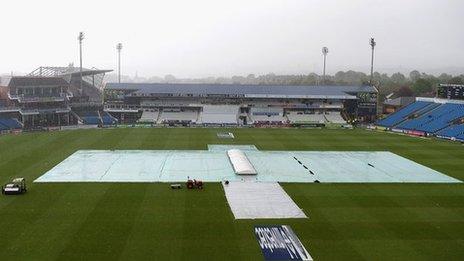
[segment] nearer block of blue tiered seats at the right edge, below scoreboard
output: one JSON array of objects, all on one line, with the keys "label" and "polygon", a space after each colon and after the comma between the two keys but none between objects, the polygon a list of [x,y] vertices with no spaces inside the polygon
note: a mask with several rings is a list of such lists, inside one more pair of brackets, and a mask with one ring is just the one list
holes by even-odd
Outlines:
[{"label": "nearer block of blue tiered seats at the right edge, below scoreboard", "polygon": [[453,120],[461,117],[464,117],[464,104],[446,103],[418,118],[398,125],[398,128],[435,133],[447,127]]}]

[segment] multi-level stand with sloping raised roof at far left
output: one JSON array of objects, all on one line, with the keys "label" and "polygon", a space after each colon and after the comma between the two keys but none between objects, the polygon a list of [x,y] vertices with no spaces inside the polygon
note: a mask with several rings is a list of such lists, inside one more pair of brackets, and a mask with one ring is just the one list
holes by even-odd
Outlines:
[{"label": "multi-level stand with sloping raised roof at far left", "polygon": [[[0,90],[0,118],[16,118],[24,130],[112,124],[114,118],[99,114],[103,110],[103,78],[110,71],[83,68],[80,72],[70,64],[7,77]],[[77,113],[91,110],[94,112],[88,115]]]}]

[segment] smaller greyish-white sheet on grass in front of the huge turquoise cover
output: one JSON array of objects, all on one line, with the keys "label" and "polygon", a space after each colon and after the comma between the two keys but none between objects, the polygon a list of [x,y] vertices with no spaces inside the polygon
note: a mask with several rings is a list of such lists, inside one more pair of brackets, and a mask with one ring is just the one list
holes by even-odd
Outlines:
[{"label": "smaller greyish-white sheet on grass in front of the huge turquoise cover", "polygon": [[235,219],[307,218],[279,183],[234,181],[223,186]]}]

